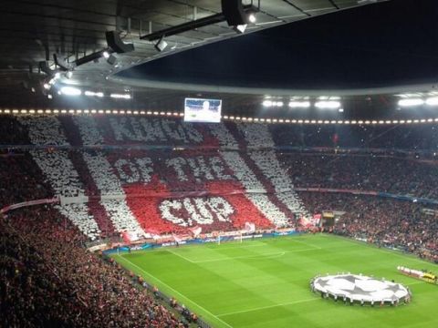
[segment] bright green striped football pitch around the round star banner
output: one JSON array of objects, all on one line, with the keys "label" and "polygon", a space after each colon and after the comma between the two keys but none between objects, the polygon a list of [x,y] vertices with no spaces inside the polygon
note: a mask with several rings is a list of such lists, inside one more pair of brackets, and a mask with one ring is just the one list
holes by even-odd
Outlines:
[{"label": "bright green striped football pitch around the round star banner", "polygon": [[[438,327],[438,285],[396,269],[402,265],[438,272],[438,266],[337,236],[278,237],[113,256],[214,327]],[[311,278],[338,272],[401,282],[410,287],[412,302],[350,306],[310,292]]]}]

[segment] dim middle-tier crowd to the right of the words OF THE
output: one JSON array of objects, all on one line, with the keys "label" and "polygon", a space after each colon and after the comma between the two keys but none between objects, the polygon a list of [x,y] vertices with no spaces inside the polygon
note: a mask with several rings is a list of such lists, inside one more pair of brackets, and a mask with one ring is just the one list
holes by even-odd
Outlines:
[{"label": "dim middle-tier crowd to the right of the words OF THE", "polygon": [[438,200],[435,161],[295,152],[278,157],[296,187],[374,190]]}]

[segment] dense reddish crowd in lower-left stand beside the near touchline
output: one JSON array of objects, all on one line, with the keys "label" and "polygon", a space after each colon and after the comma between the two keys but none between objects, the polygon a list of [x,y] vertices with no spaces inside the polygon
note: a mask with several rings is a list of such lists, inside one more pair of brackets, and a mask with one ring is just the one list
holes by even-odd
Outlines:
[{"label": "dense reddish crowd in lower-left stand beside the near touchline", "polygon": [[0,311],[5,327],[183,327],[119,264],[86,251],[53,208],[0,220]]}]

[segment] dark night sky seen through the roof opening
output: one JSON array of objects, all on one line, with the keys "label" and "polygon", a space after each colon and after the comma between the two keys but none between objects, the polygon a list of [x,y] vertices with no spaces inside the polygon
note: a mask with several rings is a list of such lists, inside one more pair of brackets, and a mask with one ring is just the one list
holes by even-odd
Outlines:
[{"label": "dark night sky seen through the roof opening", "polygon": [[121,75],[240,87],[432,82],[438,80],[438,1],[392,0],[323,15],[167,56]]}]

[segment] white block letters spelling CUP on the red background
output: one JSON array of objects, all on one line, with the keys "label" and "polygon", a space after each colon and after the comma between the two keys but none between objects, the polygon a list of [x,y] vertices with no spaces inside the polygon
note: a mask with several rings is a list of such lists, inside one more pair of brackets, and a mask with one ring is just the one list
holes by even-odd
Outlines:
[{"label": "white block letters spelling CUP on the red background", "polygon": [[212,224],[215,219],[229,221],[235,212],[222,197],[163,200],[160,210],[163,219],[183,227]]}]

